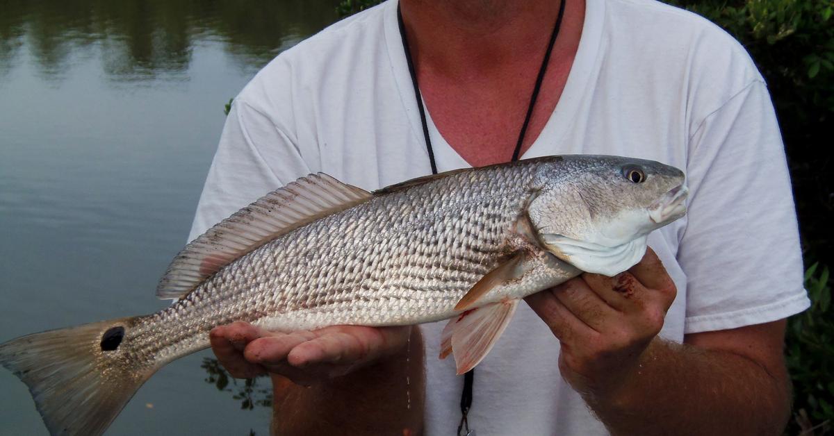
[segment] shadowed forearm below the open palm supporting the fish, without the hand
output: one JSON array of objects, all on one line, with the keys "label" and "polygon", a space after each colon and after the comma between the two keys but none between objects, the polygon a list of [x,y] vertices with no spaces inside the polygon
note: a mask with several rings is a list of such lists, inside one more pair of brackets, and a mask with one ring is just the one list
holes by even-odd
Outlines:
[{"label": "shadowed forearm below the open palm supporting the fish, without the hand", "polygon": [[273,375],[272,433],[422,433],[423,354],[420,328],[412,328],[407,349],[326,383],[304,388]]}]

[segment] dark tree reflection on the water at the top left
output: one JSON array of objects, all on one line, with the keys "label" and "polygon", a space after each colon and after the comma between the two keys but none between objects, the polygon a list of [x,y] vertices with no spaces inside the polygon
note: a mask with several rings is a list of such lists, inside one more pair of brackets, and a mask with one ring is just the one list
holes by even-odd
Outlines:
[{"label": "dark tree reflection on the water at the top left", "polygon": [[13,68],[23,40],[39,73],[60,78],[79,53],[93,51],[109,78],[187,78],[193,47],[206,40],[247,70],[335,19],[333,0],[4,0],[0,74]]}]

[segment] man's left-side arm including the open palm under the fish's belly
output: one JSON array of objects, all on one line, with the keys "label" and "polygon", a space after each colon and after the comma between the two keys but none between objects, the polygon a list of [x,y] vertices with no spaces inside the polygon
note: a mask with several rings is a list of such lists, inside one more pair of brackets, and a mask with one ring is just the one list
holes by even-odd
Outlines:
[{"label": "man's left-side arm including the open palm under the fish's belly", "polygon": [[234,377],[269,371],[273,434],[422,433],[420,328],[334,326],[270,333],[234,323],[214,328],[211,343]]}]

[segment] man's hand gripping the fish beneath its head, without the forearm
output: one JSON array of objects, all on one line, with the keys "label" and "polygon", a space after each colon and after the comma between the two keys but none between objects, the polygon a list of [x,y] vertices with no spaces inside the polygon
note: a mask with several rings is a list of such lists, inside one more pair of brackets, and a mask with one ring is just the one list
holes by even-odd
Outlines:
[{"label": "man's hand gripping the fish beneath its head, without the forearm", "polygon": [[676,288],[651,248],[610,278],[584,273],[526,298],[561,343],[559,368],[578,392],[610,396],[639,369]]}]

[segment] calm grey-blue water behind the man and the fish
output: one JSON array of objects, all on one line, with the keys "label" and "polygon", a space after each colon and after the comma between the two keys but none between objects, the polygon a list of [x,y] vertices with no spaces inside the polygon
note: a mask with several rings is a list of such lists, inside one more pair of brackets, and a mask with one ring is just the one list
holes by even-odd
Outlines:
[{"label": "calm grey-blue water behind the man and the fish", "polygon": [[[335,3],[0,0],[0,342],[163,307],[224,103]],[[108,434],[268,433],[242,383],[205,382],[209,356],[163,368]],[[0,433],[47,433],[3,369]]]}]

